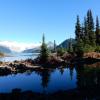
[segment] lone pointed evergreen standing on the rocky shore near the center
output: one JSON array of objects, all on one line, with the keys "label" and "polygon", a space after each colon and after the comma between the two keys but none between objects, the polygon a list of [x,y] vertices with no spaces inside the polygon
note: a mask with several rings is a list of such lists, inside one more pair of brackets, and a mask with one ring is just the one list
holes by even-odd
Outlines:
[{"label": "lone pointed evergreen standing on the rocky shore near the center", "polygon": [[43,34],[42,46],[41,46],[41,52],[40,52],[40,62],[46,63],[48,61],[48,57],[49,57],[49,52],[48,52],[47,45],[45,43],[45,36]]}]

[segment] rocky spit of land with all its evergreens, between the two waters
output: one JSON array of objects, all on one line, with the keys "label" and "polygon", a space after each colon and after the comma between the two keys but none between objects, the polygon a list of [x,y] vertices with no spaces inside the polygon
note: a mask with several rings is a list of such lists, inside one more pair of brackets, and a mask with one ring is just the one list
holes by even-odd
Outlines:
[{"label": "rocky spit of land with all its evergreens, between the two waters", "polygon": [[[100,62],[100,28],[99,19],[96,17],[94,26],[92,11],[88,10],[84,18],[84,24],[80,24],[79,16],[75,25],[75,41],[69,39],[68,47],[57,46],[54,40],[54,48],[48,49],[45,35],[42,37],[41,50],[37,58],[14,62],[0,62],[1,73],[16,73],[27,70],[41,70],[56,68],[66,64],[86,64]],[[0,56],[5,54],[0,53]],[[56,66],[56,67],[55,67]]]}]

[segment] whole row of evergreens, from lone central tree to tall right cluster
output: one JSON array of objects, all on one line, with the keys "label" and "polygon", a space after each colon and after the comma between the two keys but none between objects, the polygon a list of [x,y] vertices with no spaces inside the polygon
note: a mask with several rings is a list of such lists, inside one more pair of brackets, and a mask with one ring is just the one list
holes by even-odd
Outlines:
[{"label": "whole row of evergreens, from lone central tree to tall right cluster", "polygon": [[[91,10],[87,11],[87,15],[84,17],[82,23],[80,22],[79,16],[77,16],[75,43],[72,42],[72,39],[69,39],[69,43],[66,43],[66,45],[68,45],[66,48],[63,46],[58,48],[54,40],[54,49],[51,52],[57,53],[58,56],[62,56],[66,52],[76,56],[83,56],[86,52],[100,52],[100,26],[98,16],[96,17],[95,23]],[[39,56],[41,63],[47,61],[49,55],[50,50],[47,48],[45,36],[43,35]]]}]

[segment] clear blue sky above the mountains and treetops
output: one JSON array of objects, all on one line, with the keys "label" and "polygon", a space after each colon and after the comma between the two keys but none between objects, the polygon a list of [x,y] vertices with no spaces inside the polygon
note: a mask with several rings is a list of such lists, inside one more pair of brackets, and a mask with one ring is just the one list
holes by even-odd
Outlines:
[{"label": "clear blue sky above the mountains and treetops", "polygon": [[[76,15],[88,9],[100,16],[100,0],[0,0],[0,40],[24,43],[62,42],[74,37]],[[99,17],[100,18],[100,17]]]}]

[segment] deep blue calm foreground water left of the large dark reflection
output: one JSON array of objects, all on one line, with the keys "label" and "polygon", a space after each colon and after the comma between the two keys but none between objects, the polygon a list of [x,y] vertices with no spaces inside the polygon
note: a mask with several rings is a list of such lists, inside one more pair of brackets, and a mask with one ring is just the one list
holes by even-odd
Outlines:
[{"label": "deep blue calm foreground water left of the large dark reflection", "polygon": [[23,73],[0,77],[0,92],[11,92],[18,88],[22,91],[31,90],[33,92],[52,93],[59,90],[69,90],[76,88],[77,78],[76,70],[73,69],[73,75],[69,68],[55,69],[52,71]]}]

